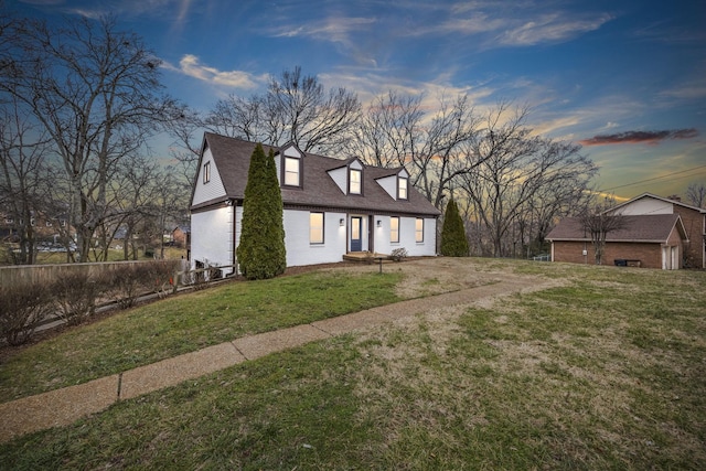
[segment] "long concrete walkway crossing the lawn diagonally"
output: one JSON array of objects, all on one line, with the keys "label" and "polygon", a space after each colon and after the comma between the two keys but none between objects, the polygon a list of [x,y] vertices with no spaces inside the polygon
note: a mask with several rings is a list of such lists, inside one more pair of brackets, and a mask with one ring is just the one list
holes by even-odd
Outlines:
[{"label": "long concrete walkway crossing the lawn diagonally", "polygon": [[441,307],[464,306],[491,296],[547,288],[534,277],[509,277],[494,285],[381,306],[352,314],[244,336],[120,374],[0,404],[0,442],[74,421],[130,399],[270,353],[368,329]]}]

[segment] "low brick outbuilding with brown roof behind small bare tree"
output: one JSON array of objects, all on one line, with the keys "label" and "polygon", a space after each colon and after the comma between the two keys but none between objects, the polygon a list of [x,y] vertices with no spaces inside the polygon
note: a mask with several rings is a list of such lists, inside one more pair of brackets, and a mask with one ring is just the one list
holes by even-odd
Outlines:
[{"label": "low brick outbuilding with brown roof behind small bare tree", "polygon": [[[678,269],[688,238],[678,214],[623,216],[623,227],[608,233],[602,263],[644,268]],[[552,261],[595,264],[590,234],[578,217],[567,217],[547,235]]]}]

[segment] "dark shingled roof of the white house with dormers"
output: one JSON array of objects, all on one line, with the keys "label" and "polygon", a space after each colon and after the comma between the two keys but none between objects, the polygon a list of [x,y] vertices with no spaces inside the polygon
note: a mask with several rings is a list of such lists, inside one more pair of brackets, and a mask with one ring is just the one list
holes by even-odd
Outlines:
[{"label": "dark shingled roof of the white house with dormers", "polygon": [[[243,200],[250,156],[255,150],[255,142],[206,132],[204,148],[210,148],[216,169],[225,186],[226,197]],[[263,146],[265,153],[270,149],[278,153],[279,148]],[[441,213],[411,185],[408,188],[408,200],[393,199],[376,179],[399,173],[403,169],[383,169],[365,165],[363,170],[363,195],[344,194],[327,173],[330,170],[345,167],[354,159],[341,160],[330,157],[302,152],[303,184],[301,189],[284,186],[282,202],[285,207],[309,206],[328,207],[334,210],[370,211],[378,213],[416,214],[420,216],[439,216]],[[203,207],[212,202],[205,202]],[[192,207],[195,208],[196,206]]]}]

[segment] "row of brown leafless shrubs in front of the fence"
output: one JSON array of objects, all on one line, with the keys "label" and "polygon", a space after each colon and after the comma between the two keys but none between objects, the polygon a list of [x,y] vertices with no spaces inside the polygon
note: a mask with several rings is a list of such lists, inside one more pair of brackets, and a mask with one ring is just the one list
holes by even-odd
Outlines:
[{"label": "row of brown leafless shrubs in front of the fence", "polygon": [[51,315],[75,325],[93,314],[97,302],[135,304],[145,293],[164,296],[172,289],[179,260],[119,265],[99,276],[75,271],[52,283],[0,287],[0,335],[10,345],[32,336],[38,323]]}]

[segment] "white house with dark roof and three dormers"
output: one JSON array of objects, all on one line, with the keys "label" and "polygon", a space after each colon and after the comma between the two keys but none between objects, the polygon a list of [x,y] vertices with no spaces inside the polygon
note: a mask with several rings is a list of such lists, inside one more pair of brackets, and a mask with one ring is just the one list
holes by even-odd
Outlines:
[{"label": "white house with dark roof and three dormers", "polygon": [[[255,142],[204,135],[191,197],[191,253],[196,266],[236,265],[243,200]],[[409,184],[404,168],[359,159],[275,151],[285,206],[287,266],[341,261],[346,253],[436,255],[440,212]],[[226,270],[232,272],[231,269]]]}]

